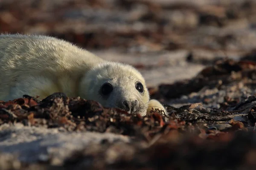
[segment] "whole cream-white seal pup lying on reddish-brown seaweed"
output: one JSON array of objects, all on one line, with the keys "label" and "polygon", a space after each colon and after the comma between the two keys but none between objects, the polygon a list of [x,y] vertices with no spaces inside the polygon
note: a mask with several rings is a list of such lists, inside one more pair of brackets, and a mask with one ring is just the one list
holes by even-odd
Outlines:
[{"label": "whole cream-white seal pup lying on reddish-brown seaweed", "polygon": [[[0,100],[55,92],[95,100],[144,116],[152,106],[145,79],[131,65],[104,60],[65,40],[44,35],[0,35]],[[164,110],[165,111],[165,110]]]}]

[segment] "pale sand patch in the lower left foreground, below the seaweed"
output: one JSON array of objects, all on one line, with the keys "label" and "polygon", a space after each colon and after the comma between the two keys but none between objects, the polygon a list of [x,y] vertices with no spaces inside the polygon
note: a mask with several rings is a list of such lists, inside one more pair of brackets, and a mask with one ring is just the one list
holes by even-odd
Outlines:
[{"label": "pale sand patch in the lower left foreground, below the seaweed", "polygon": [[51,159],[53,165],[61,165],[71,153],[91,143],[100,144],[102,140],[130,142],[128,136],[113,133],[67,133],[61,132],[61,128],[27,127],[23,124],[1,125],[0,136],[2,153],[12,153],[20,161],[29,163]]}]

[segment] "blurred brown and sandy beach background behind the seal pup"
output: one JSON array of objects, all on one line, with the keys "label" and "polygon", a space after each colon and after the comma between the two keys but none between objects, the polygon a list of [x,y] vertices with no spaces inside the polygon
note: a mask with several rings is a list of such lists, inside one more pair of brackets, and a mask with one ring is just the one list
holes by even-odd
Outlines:
[{"label": "blurred brown and sandy beach background behind the seal pup", "polygon": [[149,87],[255,59],[255,28],[255,0],[0,0],[1,33],[68,40],[134,65]]}]

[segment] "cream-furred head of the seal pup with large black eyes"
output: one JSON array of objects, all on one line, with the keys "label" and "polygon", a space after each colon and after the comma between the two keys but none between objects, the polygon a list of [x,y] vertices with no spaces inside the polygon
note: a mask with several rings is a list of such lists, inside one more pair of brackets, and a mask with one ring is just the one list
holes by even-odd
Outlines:
[{"label": "cream-furred head of the seal pup with large black eyes", "polygon": [[121,108],[128,113],[146,114],[149,101],[145,79],[131,65],[104,62],[81,79],[79,95],[105,107]]}]

